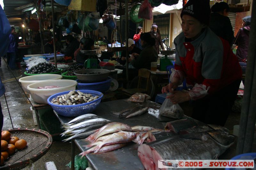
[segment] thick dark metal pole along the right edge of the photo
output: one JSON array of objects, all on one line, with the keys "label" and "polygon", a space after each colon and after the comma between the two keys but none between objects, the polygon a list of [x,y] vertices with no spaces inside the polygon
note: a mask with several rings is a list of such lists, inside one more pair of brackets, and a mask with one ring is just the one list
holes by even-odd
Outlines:
[{"label": "thick dark metal pole along the right edge of the photo", "polygon": [[[253,10],[254,9],[254,10]],[[256,10],[256,4],[252,3],[252,11]],[[246,79],[241,110],[240,126],[236,147],[236,154],[252,151],[253,135],[256,120],[256,13],[252,12],[251,31],[249,36],[249,50],[247,57]]]}]

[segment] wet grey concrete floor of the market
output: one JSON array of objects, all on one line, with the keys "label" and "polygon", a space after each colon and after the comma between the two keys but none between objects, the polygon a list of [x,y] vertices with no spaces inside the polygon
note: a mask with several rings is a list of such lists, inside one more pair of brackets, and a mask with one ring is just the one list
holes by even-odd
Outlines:
[{"label": "wet grey concrete floor of the market", "polygon": [[[2,66],[0,67],[0,76],[2,81],[6,81],[4,86],[6,88],[5,96],[8,103],[9,111],[12,117],[12,123],[14,128],[38,128],[34,124],[32,111],[30,110],[30,103],[26,99],[25,94],[21,90],[18,82],[12,78],[14,76],[20,77],[24,76],[25,68],[20,70],[9,70],[6,64],[2,59]],[[14,74],[14,76],[12,75]],[[18,79],[18,78],[17,78]],[[29,94],[26,93],[29,97]],[[10,116],[7,110],[6,102],[4,96],[0,97],[0,102],[3,110],[4,115],[4,126],[3,129],[12,128],[12,124],[10,121]],[[181,105],[184,109],[184,112],[189,115],[191,112],[191,108],[186,104]],[[226,128],[233,132],[233,126],[239,124],[240,113],[232,113],[228,117],[228,121],[225,125]],[[79,149],[76,147],[75,154],[80,153]],[[45,162],[54,161],[57,168],[59,170],[70,169],[65,165],[69,163],[71,160],[71,143],[68,142],[61,142],[61,141],[54,141],[50,150],[39,160],[34,162],[29,167],[24,168],[25,170],[42,170],[45,169]]]}]

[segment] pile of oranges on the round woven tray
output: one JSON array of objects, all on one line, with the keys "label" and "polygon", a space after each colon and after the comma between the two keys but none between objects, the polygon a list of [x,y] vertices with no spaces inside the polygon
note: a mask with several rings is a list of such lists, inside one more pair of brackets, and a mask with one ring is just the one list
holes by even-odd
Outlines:
[{"label": "pile of oranges on the round woven tray", "polygon": [[7,130],[1,133],[1,165],[4,160],[15,153],[16,149],[20,150],[27,146],[25,139],[19,139],[19,137],[11,137],[11,133]]}]

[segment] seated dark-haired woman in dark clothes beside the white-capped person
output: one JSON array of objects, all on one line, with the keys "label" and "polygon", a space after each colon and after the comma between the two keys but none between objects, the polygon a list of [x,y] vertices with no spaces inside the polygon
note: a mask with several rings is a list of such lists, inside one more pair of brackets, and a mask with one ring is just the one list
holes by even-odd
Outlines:
[{"label": "seated dark-haired woman in dark clothes beside the white-capped person", "polygon": [[[132,53],[132,56],[129,58],[133,67],[137,70],[139,69],[148,69],[151,68],[151,62],[157,61],[157,53],[154,49],[155,39],[151,37],[149,33],[142,33],[140,35],[141,46],[143,50],[140,52],[140,55],[137,53]],[[135,57],[137,57],[135,59]]]}]

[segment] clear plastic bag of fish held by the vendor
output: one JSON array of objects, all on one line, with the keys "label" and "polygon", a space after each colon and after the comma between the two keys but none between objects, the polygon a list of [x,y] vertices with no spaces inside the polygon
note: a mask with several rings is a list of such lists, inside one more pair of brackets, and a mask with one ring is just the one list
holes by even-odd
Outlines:
[{"label": "clear plastic bag of fish held by the vendor", "polygon": [[[167,96],[169,95],[171,95],[171,93],[167,93]],[[174,119],[180,119],[183,117],[184,111],[179,104],[174,105],[170,99],[165,99],[164,103],[159,109],[159,114]]]}]

